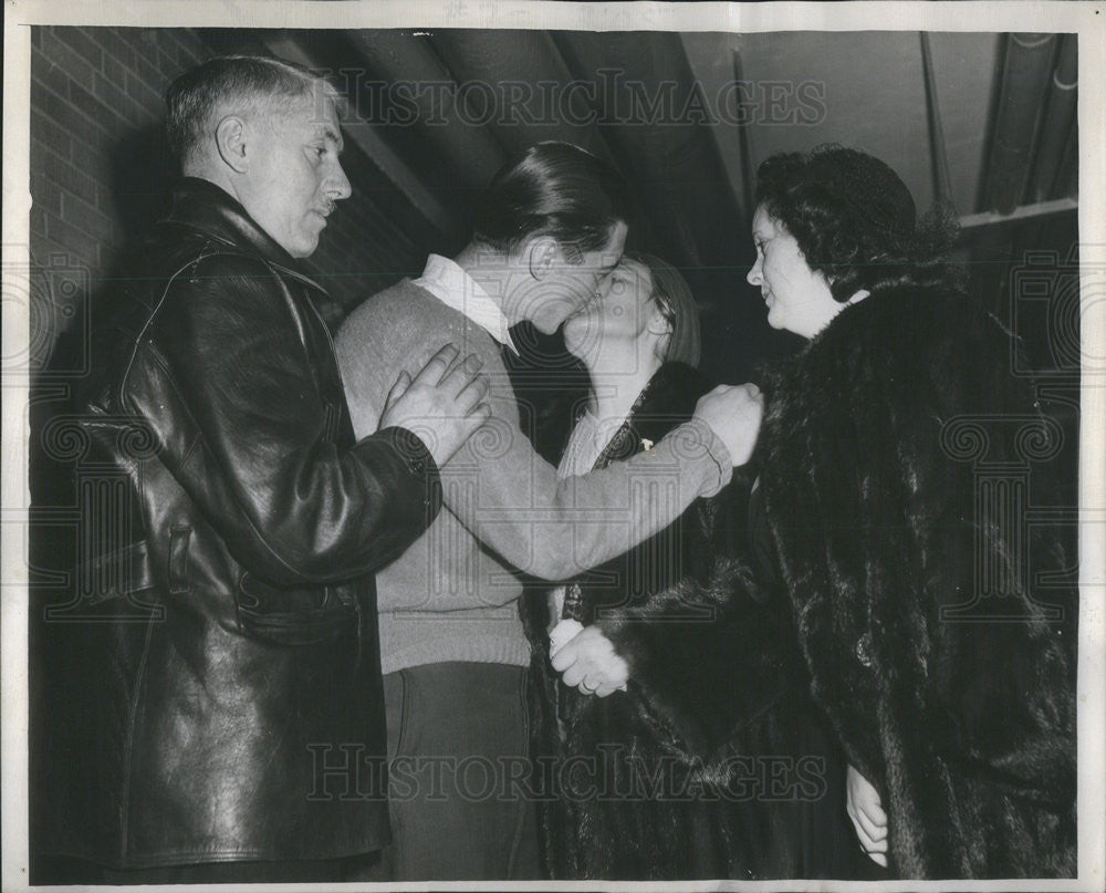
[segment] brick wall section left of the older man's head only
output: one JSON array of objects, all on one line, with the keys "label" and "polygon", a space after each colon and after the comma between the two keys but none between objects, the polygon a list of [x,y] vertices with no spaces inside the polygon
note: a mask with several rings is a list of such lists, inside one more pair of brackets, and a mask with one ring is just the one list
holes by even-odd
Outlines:
[{"label": "brick wall section left of the older man's head only", "polygon": [[165,84],[208,58],[195,34],[145,28],[31,29],[32,334],[50,344],[105,287],[173,176],[159,139]]}]

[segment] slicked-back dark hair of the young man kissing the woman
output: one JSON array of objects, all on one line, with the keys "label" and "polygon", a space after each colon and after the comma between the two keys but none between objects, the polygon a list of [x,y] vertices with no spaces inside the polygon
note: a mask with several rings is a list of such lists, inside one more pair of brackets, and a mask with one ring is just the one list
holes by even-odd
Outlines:
[{"label": "slicked-back dark hair of the young man kissing the woman", "polygon": [[630,216],[629,187],[614,167],[580,146],[546,142],[495,175],[477,199],[472,229],[474,240],[499,251],[531,236],[596,251]]}]

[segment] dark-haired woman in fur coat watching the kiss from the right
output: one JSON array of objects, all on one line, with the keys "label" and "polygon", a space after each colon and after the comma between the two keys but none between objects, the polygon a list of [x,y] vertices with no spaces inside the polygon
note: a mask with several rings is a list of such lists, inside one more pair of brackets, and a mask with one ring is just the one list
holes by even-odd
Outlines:
[{"label": "dark-haired woman in fur coat watching the kiss from the right", "polygon": [[749,281],[810,343],[765,384],[758,499],[872,858],[1071,878],[1077,596],[1037,584],[1070,562],[1023,517],[1030,484],[1056,498],[1062,433],[950,280],[950,235],[863,153],[761,166]]}]

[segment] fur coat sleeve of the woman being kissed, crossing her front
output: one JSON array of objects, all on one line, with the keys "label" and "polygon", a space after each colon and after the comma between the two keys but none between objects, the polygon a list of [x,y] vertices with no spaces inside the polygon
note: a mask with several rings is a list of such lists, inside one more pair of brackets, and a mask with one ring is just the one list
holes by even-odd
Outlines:
[{"label": "fur coat sleeve of the woman being kissed, crossing her front", "polygon": [[[659,440],[707,390],[695,370],[662,366],[601,463]],[[709,762],[803,672],[786,601],[759,585],[748,560],[750,482],[737,474],[651,543],[580,581],[587,622],[629,664],[635,696],[687,760]]]}]

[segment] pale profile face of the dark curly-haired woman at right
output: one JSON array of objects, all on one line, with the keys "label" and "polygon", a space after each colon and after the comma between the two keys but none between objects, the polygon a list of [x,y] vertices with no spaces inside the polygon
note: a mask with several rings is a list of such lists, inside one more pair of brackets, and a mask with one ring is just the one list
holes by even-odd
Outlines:
[{"label": "pale profile face of the dark curly-haired woman at right", "polygon": [[803,338],[814,338],[844,307],[834,300],[821,272],[806,263],[799,242],[764,208],[753,216],[757,262],[745,279],[761,290],[768,323]]}]

